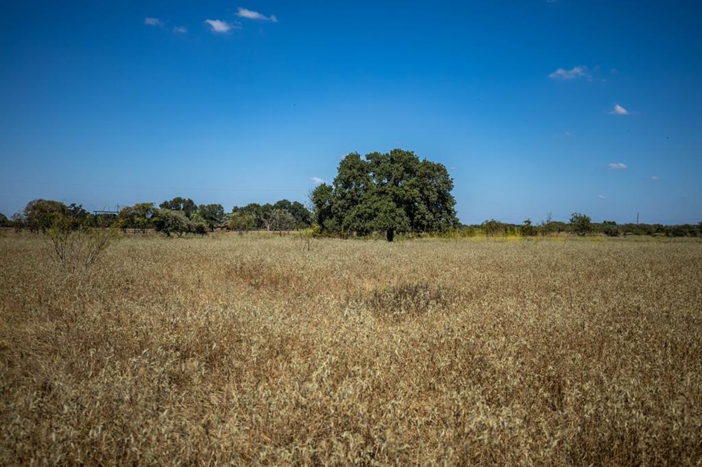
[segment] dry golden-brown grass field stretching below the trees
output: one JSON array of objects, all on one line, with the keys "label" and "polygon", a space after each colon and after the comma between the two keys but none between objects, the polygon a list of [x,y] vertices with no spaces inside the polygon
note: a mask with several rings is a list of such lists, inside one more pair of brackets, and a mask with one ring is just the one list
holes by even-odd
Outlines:
[{"label": "dry golden-brown grass field stretching below the trees", "polygon": [[702,242],[0,238],[0,464],[702,459]]}]

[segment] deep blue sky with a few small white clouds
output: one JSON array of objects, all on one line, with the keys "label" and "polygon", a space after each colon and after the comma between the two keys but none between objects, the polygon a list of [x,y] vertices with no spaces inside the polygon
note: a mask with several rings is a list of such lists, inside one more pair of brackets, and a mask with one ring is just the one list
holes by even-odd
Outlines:
[{"label": "deep blue sky with a few small white clouds", "polygon": [[462,222],[702,220],[702,4],[4,2],[0,212],[305,201],[444,163]]}]

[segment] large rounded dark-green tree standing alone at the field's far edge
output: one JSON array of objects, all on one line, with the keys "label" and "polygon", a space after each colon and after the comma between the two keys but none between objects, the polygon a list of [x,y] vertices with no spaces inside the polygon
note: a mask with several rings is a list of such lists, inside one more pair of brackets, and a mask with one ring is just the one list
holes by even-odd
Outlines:
[{"label": "large rounded dark-green tree standing alone at the field's far edge", "polygon": [[412,151],[393,149],[343,158],[331,185],[310,198],[323,231],[369,234],[385,231],[436,232],[458,224],[453,180],[440,163],[420,160]]}]

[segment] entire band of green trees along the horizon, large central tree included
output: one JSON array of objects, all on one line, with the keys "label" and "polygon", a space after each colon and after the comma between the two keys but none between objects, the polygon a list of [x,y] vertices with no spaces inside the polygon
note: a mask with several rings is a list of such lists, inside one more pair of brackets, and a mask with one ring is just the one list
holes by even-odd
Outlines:
[{"label": "entire band of green trees along the horizon, large central tree included", "polygon": [[[322,184],[312,192],[314,212],[298,201],[282,199],[273,204],[234,206],[231,212],[225,213],[220,204],[197,205],[190,198],[176,197],[159,204],[158,208],[154,203],[136,203],[121,208],[116,214],[91,214],[75,203],[66,205],[61,201],[35,199],[10,219],[0,214],[0,226],[43,234],[57,226],[63,231],[117,226],[142,232],[155,230],[165,236],[204,235],[216,229],[289,231],[312,227],[318,233],[331,236],[386,231],[389,240],[392,240],[394,231],[449,236],[545,236],[564,233],[611,237],[702,236],[702,222],[696,225],[592,222],[588,215],[579,212],[574,212],[569,222],[554,221],[548,215],[539,224],[533,224],[530,219],[522,224],[490,219],[482,224],[462,225],[453,211],[453,199],[447,197],[452,185],[445,175],[445,169],[442,170],[443,166],[437,168],[430,165],[422,169],[417,165],[418,159],[414,158],[416,156],[412,153],[366,156],[366,160],[373,161],[373,164],[388,164],[378,167],[365,165],[366,161],[358,154],[350,154],[340,164],[339,176],[333,184]],[[417,182],[406,182],[407,179],[403,178],[409,170],[433,173],[422,183],[433,184],[434,187],[418,194]],[[428,205],[434,208],[430,209]],[[437,205],[440,208],[436,208]]]}]

